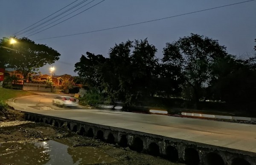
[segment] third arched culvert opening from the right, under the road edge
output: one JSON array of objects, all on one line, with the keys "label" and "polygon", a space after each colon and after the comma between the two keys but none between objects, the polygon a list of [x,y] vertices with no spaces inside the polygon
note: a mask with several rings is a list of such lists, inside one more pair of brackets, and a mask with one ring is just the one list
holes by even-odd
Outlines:
[{"label": "third arched culvert opening from the right, under the road edge", "polygon": [[194,148],[186,148],[184,153],[184,159],[185,163],[187,165],[199,165],[200,159],[198,151],[196,151]]}]

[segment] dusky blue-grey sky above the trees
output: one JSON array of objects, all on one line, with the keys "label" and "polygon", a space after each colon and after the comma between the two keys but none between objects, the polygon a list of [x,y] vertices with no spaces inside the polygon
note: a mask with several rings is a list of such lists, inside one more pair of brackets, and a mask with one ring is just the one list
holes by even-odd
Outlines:
[{"label": "dusky blue-grey sky above the trees", "polygon": [[[10,37],[74,1],[0,0],[0,38]],[[77,0],[40,23],[83,1],[84,3],[75,9],[91,3],[49,26],[72,17],[97,3],[99,4],[63,23],[41,31],[49,27],[46,26],[38,30],[41,31],[38,34],[31,35],[36,32],[36,29],[63,17],[75,9],[33,29],[32,31],[35,32],[31,34],[29,33],[32,31],[28,31],[17,35],[18,38],[28,37],[35,43],[46,44],[61,54],[58,62],[40,68],[42,74],[49,74],[49,68],[53,66],[55,67],[55,75],[77,75],[74,72],[74,65],[79,62],[81,54],[86,55],[85,53],[89,51],[108,57],[109,49],[115,43],[119,44],[134,39],[144,40],[148,38],[148,42],[156,46],[158,50],[156,56],[162,58],[162,51],[166,43],[177,41],[179,37],[189,36],[190,33],[218,40],[221,45],[227,47],[228,53],[237,57],[247,57],[247,54],[255,54],[253,47],[256,44],[254,42],[256,38],[256,0],[246,3],[240,3],[245,0]],[[240,4],[226,6],[233,3]],[[201,11],[219,6],[226,7]],[[194,11],[201,12],[186,14]],[[179,14],[186,15],[172,17]],[[58,37],[165,17],[171,18],[105,31]],[[35,24],[35,26],[38,24]],[[45,39],[51,37],[56,38]]]}]

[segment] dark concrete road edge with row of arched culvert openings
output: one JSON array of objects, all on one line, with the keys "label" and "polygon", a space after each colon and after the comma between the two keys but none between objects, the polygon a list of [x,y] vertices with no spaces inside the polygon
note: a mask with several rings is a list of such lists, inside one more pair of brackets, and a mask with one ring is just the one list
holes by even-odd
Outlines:
[{"label": "dark concrete road edge with row of arched culvert openings", "polygon": [[256,153],[173,139],[89,122],[63,119],[24,112],[27,120],[44,122],[88,137],[118,144],[131,150],[161,156],[172,162],[191,165],[256,165]]}]

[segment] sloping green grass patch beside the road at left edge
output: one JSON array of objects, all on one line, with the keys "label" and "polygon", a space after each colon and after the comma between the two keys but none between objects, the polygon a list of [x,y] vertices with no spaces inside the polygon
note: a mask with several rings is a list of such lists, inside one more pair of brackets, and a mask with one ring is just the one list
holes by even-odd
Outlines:
[{"label": "sloping green grass patch beside the road at left edge", "polygon": [[11,99],[14,97],[32,96],[32,95],[37,95],[37,94],[29,91],[0,88],[0,100],[3,100],[3,102],[6,102],[8,99]]}]

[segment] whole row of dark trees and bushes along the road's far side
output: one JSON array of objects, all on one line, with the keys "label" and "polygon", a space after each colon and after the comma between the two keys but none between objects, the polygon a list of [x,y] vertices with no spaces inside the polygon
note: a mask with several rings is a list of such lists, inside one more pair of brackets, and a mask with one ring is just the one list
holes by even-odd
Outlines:
[{"label": "whole row of dark trees and bushes along the road's far side", "polygon": [[157,51],[144,39],[115,44],[108,57],[86,52],[75,71],[87,91],[96,88],[98,94],[88,92],[82,100],[118,100],[125,111],[256,116],[256,53],[236,57],[198,34],[166,43],[162,59]]}]

